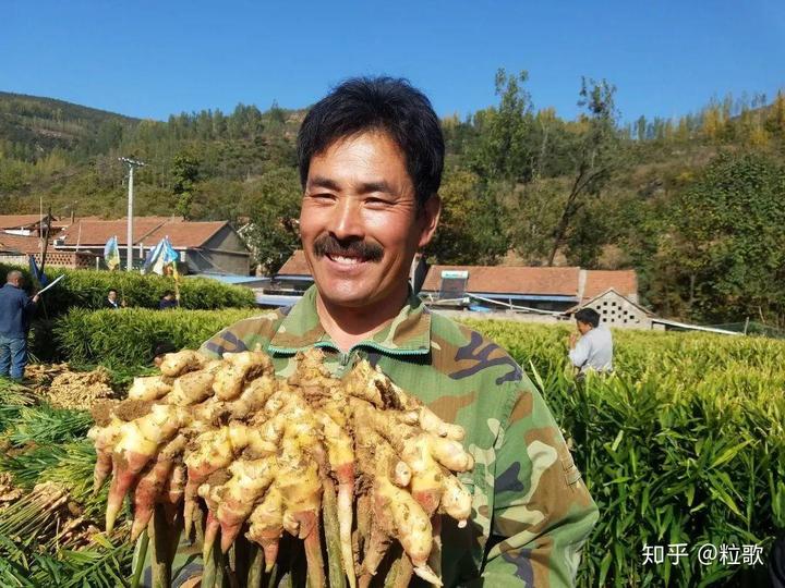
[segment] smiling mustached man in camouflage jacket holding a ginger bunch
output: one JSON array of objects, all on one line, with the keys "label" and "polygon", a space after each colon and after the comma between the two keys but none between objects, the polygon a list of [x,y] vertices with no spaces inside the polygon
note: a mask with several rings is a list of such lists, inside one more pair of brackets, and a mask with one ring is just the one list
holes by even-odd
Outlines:
[{"label": "smiling mustached man in camouflage jacket holding a ginger bunch", "polygon": [[315,286],[202,351],[263,348],[278,373],[312,346],[335,376],[359,358],[378,365],[461,425],[476,461],[462,477],[474,500],[469,525],[444,522],[445,585],[571,585],[596,506],[558,426],[504,350],[428,313],[409,289],[412,258],[440,211],[444,139],[427,98],[400,79],[350,79],[305,117],[298,157]]}]

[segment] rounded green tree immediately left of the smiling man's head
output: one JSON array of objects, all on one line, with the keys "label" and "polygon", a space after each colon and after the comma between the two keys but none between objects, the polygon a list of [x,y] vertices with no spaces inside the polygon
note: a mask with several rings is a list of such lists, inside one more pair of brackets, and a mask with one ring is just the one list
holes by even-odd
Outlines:
[{"label": "rounded green tree immediately left of the smiling man's head", "polygon": [[274,275],[300,246],[298,219],[302,188],[294,168],[278,168],[251,184],[244,208],[250,223],[245,241],[256,264]]}]

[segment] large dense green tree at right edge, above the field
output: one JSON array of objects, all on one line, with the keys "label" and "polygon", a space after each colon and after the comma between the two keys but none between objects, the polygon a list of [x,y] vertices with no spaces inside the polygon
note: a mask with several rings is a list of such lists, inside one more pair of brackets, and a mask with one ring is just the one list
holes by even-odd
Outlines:
[{"label": "large dense green tree at right edge, above the field", "polygon": [[754,151],[718,156],[677,195],[660,257],[689,317],[782,320],[784,198],[785,167]]}]

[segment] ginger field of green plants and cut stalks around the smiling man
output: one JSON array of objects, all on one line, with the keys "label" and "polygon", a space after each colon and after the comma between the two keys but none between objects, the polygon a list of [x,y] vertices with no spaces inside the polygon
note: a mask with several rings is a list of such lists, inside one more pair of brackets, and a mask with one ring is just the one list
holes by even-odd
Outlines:
[{"label": "ginger field of green plants and cut stalks around the smiling man", "polygon": [[[130,510],[107,536],[106,489],[92,493],[90,395],[122,397],[130,376],[150,371],[161,338],[193,346],[245,313],[135,310],[128,329],[123,314],[77,313],[56,326],[61,358],[83,371],[109,369],[55,382],[64,366],[37,367],[29,385],[0,380],[0,585],[131,585]],[[470,324],[542,390],[600,506],[580,586],[762,584],[764,565],[751,555],[765,563],[785,531],[784,342],[615,332],[616,373],[577,385],[567,327]],[[667,553],[676,544],[686,556],[647,561],[647,547]],[[745,548],[750,558],[701,561],[705,544]]]}]

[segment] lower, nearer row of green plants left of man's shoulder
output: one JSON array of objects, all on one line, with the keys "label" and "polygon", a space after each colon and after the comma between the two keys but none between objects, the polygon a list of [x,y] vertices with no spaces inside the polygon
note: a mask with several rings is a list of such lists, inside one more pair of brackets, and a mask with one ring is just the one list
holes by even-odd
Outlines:
[{"label": "lower, nearer row of green plants left of man's shoulder", "polygon": [[85,310],[74,308],[55,322],[55,341],[63,359],[120,369],[148,365],[161,346],[196,348],[227,324],[254,315],[230,310]]}]

